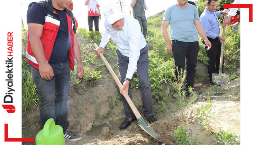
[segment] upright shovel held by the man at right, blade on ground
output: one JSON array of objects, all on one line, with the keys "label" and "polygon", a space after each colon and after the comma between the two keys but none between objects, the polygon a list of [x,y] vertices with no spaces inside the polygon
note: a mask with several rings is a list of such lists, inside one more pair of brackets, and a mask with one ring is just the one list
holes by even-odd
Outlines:
[{"label": "upright shovel held by the man at right, blade on ground", "polygon": [[[227,14],[225,14],[224,21],[226,19],[227,19]],[[222,34],[223,38],[225,38],[225,30],[226,30],[226,26],[223,28],[223,34]],[[228,79],[229,79],[229,74],[222,73],[223,48],[224,48],[224,40],[222,40],[222,42],[221,42],[219,74],[212,73],[212,82],[217,85],[225,84],[228,82]]]}]

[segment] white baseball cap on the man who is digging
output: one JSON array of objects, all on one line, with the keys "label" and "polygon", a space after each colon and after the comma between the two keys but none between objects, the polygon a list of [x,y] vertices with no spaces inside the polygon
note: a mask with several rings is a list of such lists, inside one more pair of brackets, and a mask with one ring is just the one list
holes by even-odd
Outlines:
[{"label": "white baseball cap on the man who is digging", "polygon": [[103,13],[108,23],[113,24],[117,20],[124,18],[124,14],[121,11],[121,8],[117,4],[110,4],[103,8]]}]

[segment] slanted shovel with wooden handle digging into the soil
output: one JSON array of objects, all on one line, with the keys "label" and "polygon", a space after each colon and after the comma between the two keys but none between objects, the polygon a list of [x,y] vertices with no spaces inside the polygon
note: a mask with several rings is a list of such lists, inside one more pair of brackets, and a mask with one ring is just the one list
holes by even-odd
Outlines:
[{"label": "slanted shovel with wooden handle digging into the soil", "polygon": [[[93,46],[95,48],[97,48],[97,44],[93,43]],[[115,72],[112,70],[111,66],[109,65],[108,61],[106,60],[106,58],[103,56],[102,53],[100,53],[100,57],[103,60],[103,62],[105,63],[105,65],[107,66],[108,70],[110,71],[110,74],[112,75],[112,77],[115,79],[117,85],[119,88],[122,88],[122,84],[119,81],[119,79],[117,78]],[[147,125],[144,122],[144,119],[141,117],[141,115],[139,114],[139,111],[137,110],[137,108],[135,107],[135,105],[132,103],[131,98],[128,96],[128,93],[123,90],[122,94],[125,96],[125,99],[127,100],[129,106],[131,107],[132,112],[134,113],[134,115],[136,116],[136,118],[138,119],[139,122],[139,127],[142,128],[147,134],[149,134],[150,136],[154,137],[154,139],[156,139],[157,141],[161,142],[159,139],[157,139],[158,136],[160,136],[159,134],[157,134],[153,129],[148,128]],[[162,142],[161,142],[162,143]]]}]

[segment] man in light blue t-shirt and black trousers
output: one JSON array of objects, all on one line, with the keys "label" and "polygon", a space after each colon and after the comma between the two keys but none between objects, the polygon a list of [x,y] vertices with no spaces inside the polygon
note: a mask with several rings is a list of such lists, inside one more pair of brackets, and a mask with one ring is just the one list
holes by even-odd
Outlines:
[{"label": "man in light blue t-shirt and black trousers", "polygon": [[[170,26],[171,40],[168,36],[167,27]],[[197,31],[196,31],[197,30]],[[188,3],[188,0],[177,0],[177,3],[167,8],[162,22],[162,33],[167,43],[166,50],[173,52],[175,67],[178,71],[185,68],[186,61],[186,93],[188,88],[194,85],[195,67],[199,52],[198,33],[204,39],[205,44],[211,48],[211,42],[205,35],[203,26],[199,21],[198,10]],[[175,70],[175,76],[178,72]],[[201,91],[196,91],[201,94]]]}]

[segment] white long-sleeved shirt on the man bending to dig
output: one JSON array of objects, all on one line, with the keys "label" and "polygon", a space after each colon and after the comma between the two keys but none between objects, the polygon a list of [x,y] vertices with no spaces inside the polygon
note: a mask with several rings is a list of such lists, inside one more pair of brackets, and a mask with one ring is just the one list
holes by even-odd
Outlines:
[{"label": "white long-sleeved shirt on the man bending to dig", "polygon": [[124,15],[124,19],[124,26],[120,30],[113,28],[108,21],[105,20],[105,31],[102,34],[100,47],[104,48],[110,37],[113,39],[121,54],[129,57],[126,78],[131,79],[134,72],[137,70],[140,50],[147,45],[147,42],[141,33],[139,21],[127,15]]}]

